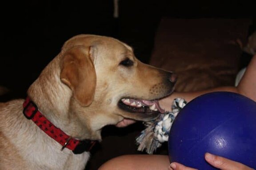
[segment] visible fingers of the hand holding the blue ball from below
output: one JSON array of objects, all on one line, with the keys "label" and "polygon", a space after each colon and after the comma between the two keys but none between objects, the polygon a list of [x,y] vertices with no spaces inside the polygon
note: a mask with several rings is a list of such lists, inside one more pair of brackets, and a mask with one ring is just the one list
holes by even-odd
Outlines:
[{"label": "visible fingers of the hand holding the blue ball from below", "polygon": [[[227,158],[223,158],[221,156],[212,155],[206,153],[204,155],[205,160],[211,164],[212,166],[220,169],[220,170],[253,170],[252,168],[245,166],[240,162],[235,162]],[[184,166],[177,162],[172,162],[169,170],[196,170],[194,168],[190,168]]]}]

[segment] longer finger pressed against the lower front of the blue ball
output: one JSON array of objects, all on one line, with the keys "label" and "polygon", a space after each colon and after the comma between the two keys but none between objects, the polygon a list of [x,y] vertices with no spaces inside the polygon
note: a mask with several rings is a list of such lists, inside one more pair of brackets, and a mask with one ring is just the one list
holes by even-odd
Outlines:
[{"label": "longer finger pressed against the lower front of the blue ball", "polygon": [[206,153],[204,158],[209,164],[221,170],[253,170],[242,163],[235,162],[221,156],[212,155],[210,153]]}]

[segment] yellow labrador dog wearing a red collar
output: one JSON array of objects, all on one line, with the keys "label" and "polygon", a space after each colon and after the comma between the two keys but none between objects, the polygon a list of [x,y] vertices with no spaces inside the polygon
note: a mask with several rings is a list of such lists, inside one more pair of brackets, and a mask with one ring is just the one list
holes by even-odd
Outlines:
[{"label": "yellow labrador dog wearing a red collar", "polygon": [[0,103],[0,169],[83,170],[104,126],[156,119],[175,80],[117,39],[69,39],[26,100]]}]

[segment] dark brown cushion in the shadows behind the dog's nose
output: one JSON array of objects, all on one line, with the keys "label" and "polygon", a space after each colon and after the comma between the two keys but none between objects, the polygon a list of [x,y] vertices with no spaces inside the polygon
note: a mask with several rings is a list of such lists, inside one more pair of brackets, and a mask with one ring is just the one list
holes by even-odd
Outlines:
[{"label": "dark brown cushion in the shadows behind the dog's nose", "polygon": [[163,18],[149,63],[177,73],[179,92],[234,85],[251,22]]}]

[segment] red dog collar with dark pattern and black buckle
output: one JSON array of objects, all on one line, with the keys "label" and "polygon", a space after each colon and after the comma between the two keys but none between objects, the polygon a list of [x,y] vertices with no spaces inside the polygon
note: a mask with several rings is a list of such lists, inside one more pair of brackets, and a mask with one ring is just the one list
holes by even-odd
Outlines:
[{"label": "red dog collar with dark pattern and black buckle", "polygon": [[38,110],[36,104],[27,97],[23,103],[23,114],[28,120],[32,120],[42,131],[56,140],[62,146],[61,151],[66,147],[74,154],[81,154],[84,151],[90,151],[95,144],[92,140],[78,140],[61,131],[54,126],[42,113]]}]

